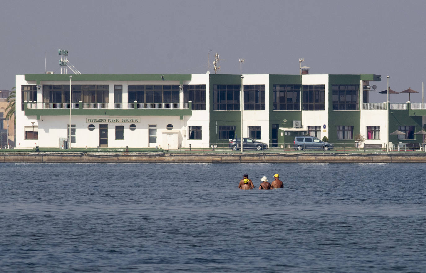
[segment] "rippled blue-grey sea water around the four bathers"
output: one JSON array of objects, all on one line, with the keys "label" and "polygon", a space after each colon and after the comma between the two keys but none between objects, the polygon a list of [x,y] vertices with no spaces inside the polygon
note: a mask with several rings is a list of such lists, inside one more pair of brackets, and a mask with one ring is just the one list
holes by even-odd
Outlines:
[{"label": "rippled blue-grey sea water around the four bathers", "polygon": [[[1,272],[425,272],[424,164],[1,164]],[[243,191],[248,173],[285,188]]]}]

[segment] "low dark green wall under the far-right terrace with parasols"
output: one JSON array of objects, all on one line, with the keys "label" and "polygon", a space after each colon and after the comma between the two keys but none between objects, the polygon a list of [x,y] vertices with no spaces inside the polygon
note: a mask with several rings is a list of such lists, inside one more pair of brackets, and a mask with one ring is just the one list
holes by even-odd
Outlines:
[{"label": "low dark green wall under the far-right terrace with parasols", "polygon": [[[409,108],[409,103],[407,103]],[[389,110],[389,132],[388,134],[396,131],[398,126],[415,126],[414,133],[422,129],[422,116],[410,116],[410,110]],[[386,134],[386,132],[383,132]],[[420,143],[423,142],[422,135],[414,135],[414,139],[406,140],[399,139],[395,135],[389,135],[389,141],[392,143],[404,142],[404,143]]]}]

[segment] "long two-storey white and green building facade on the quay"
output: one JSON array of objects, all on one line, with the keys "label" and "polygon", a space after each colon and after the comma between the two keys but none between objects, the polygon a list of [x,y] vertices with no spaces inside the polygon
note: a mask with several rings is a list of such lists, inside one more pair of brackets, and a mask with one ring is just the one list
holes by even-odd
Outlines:
[{"label": "long two-storey white and green building facade on the quay", "polygon": [[[375,74],[17,75],[16,146],[62,148],[70,116],[72,148],[227,147],[241,132],[277,148],[299,134],[418,143],[425,105],[370,103],[377,81]],[[389,136],[397,129],[406,135]]]}]

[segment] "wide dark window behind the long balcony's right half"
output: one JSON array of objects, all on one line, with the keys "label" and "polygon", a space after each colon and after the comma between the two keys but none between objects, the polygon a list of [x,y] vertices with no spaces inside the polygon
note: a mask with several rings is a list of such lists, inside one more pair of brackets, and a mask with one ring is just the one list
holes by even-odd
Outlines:
[{"label": "wide dark window behind the long balcony's right half", "polygon": [[179,102],[179,85],[129,85],[127,102]]}]

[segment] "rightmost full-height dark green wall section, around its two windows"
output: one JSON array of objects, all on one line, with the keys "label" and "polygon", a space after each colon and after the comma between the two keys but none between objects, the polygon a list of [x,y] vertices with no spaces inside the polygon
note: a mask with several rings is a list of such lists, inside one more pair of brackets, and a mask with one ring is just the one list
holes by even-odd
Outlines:
[{"label": "rightmost full-height dark green wall section, around its two windows", "polygon": [[[337,139],[337,126],[354,126],[354,134],[360,132],[360,111],[333,111],[333,88],[335,84],[360,84],[361,75],[328,75],[328,141],[352,143],[354,139]],[[358,103],[361,98],[358,92]],[[355,142],[354,142],[355,143]]]}]

